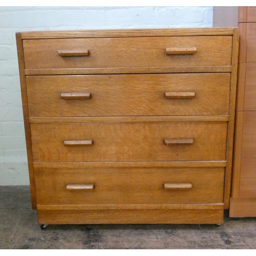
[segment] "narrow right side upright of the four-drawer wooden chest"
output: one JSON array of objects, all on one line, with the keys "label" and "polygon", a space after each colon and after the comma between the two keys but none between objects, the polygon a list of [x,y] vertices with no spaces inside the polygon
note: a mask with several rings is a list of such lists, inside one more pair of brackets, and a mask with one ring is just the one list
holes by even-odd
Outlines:
[{"label": "narrow right side upright of the four-drawer wooden chest", "polygon": [[237,92],[237,70],[238,70],[238,50],[239,50],[239,29],[234,29],[232,44],[232,71],[230,80],[230,98],[229,98],[229,122],[227,130],[227,166],[225,171],[225,188],[224,188],[224,208],[229,208],[232,158],[233,158],[233,138],[234,138],[234,112],[236,108]]}]

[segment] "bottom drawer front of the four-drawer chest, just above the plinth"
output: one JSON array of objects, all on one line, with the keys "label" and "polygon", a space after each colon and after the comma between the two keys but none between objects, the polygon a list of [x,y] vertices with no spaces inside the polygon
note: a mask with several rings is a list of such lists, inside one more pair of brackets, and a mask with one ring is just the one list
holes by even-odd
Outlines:
[{"label": "bottom drawer front of the four-drawer chest, just above the plinth", "polygon": [[224,167],[35,168],[35,186],[39,205],[222,203]]}]

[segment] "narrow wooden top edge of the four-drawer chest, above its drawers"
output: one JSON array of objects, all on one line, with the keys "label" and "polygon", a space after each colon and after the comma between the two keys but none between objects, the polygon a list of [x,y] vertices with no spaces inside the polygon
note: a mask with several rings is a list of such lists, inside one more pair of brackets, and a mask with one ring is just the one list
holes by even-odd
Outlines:
[{"label": "narrow wooden top edge of the four-drawer chest, above its drawers", "polygon": [[233,35],[233,28],[114,29],[23,32],[22,39]]}]

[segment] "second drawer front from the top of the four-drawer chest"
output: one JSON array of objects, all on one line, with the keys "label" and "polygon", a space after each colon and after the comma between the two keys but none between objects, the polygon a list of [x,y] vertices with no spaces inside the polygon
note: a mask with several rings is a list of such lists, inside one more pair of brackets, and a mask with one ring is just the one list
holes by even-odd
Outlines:
[{"label": "second drawer front from the top of the four-drawer chest", "polygon": [[230,73],[27,76],[26,81],[30,117],[228,115],[229,110]]}]

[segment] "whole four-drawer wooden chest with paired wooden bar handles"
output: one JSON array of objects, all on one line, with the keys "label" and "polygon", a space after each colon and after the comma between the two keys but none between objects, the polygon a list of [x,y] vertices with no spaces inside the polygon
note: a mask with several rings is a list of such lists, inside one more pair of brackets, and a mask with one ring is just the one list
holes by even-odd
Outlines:
[{"label": "whole four-drawer wooden chest with paired wooden bar handles", "polygon": [[238,34],[17,33],[38,222],[222,223]]}]

